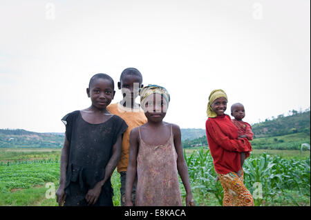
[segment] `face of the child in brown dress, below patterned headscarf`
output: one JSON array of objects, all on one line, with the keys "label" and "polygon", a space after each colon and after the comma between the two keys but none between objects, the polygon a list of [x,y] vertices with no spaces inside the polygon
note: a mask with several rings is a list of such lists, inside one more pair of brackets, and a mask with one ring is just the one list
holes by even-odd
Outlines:
[{"label": "face of the child in brown dress, below patterned headscarf", "polygon": [[151,94],[144,100],[142,109],[149,121],[162,121],[167,114],[168,103],[161,94]]}]

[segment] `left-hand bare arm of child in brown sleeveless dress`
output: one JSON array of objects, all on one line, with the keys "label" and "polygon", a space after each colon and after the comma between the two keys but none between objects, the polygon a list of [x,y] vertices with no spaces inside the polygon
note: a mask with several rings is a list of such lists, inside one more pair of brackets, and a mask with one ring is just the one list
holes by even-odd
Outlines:
[{"label": "left-hand bare arm of child in brown sleeveless dress", "polygon": [[133,128],[130,134],[129,165],[126,170],[125,206],[133,206],[131,192],[136,177],[138,144],[138,128]]}]

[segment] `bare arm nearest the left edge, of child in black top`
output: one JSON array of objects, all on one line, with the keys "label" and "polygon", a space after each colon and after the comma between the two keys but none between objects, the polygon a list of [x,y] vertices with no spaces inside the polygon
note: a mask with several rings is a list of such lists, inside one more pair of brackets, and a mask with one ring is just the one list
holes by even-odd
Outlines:
[{"label": "bare arm nearest the left edge, of child in black top", "polygon": [[65,135],[64,146],[62,148],[61,159],[60,159],[60,178],[59,178],[59,187],[56,191],[56,201],[59,206],[62,205],[62,201],[66,199],[65,194],[65,184],[66,184],[66,175],[68,168],[68,151],[69,151],[69,142]]}]

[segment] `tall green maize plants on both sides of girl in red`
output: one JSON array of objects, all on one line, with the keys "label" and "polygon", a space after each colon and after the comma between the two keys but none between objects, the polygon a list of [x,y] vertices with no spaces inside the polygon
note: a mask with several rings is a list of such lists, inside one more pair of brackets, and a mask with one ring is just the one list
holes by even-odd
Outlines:
[{"label": "tall green maize plants on both sides of girl in red", "polygon": [[[216,183],[216,172],[209,150],[185,152],[191,188],[199,205],[206,205],[207,197],[223,201],[223,188]],[[245,186],[253,194],[261,184],[262,197],[254,199],[256,206],[310,206],[310,154],[307,159],[283,159],[262,154],[249,157],[243,166]],[[213,194],[213,196],[211,196]],[[210,203],[209,203],[210,204]],[[214,201],[212,201],[214,205]]]}]

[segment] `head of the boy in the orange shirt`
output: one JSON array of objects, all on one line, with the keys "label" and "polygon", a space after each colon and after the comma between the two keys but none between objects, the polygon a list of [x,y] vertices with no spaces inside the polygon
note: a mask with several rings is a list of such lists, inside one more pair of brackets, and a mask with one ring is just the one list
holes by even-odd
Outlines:
[{"label": "head of the boy in the orange shirt", "polygon": [[123,98],[135,100],[142,87],[142,74],[138,69],[126,68],[122,71],[117,88],[121,90]]}]

